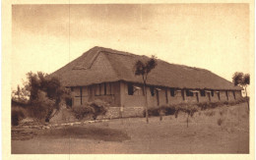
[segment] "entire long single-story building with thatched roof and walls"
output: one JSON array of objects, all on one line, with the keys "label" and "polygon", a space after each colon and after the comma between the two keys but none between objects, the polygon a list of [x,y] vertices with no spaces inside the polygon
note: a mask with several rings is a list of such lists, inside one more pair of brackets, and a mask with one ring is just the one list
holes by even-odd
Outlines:
[{"label": "entire long single-story building with thatched roof and walls", "polygon": [[[51,76],[74,91],[72,106],[101,99],[110,104],[112,112],[122,108],[124,116],[132,116],[141,114],[145,106],[143,80],[135,76],[134,65],[138,60],[147,59],[149,57],[94,47]],[[159,59],[157,62],[146,87],[149,107],[241,97],[241,87],[208,70]]]}]

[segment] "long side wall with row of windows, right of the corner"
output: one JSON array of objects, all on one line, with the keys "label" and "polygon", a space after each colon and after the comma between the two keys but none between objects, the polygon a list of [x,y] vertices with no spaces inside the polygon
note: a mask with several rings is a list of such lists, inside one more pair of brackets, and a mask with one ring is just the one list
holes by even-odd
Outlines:
[{"label": "long side wall with row of windows, right of the corner", "polygon": [[[138,84],[136,84],[138,85]],[[138,85],[142,88],[141,92],[136,93],[134,95],[128,95],[127,82],[121,82],[121,104],[126,107],[138,107],[145,106],[145,99],[143,96],[143,85]],[[123,93],[122,93],[123,90]],[[187,96],[186,90],[175,89],[174,96],[170,94],[170,88],[166,87],[155,87],[155,94],[151,94],[150,86],[147,87],[147,99],[149,107],[158,107],[166,104],[178,104],[178,103],[197,103],[197,102],[219,102],[219,101],[227,101],[226,93],[224,90],[207,92],[205,96],[201,96],[199,90],[198,92],[193,92],[193,96]],[[235,94],[235,99],[239,99],[241,97],[241,91],[227,91],[228,93],[228,101],[235,100],[233,96],[233,92]],[[158,94],[159,94],[159,104],[158,104]],[[219,96],[220,94],[220,96]],[[198,97],[197,97],[198,96]]]}]

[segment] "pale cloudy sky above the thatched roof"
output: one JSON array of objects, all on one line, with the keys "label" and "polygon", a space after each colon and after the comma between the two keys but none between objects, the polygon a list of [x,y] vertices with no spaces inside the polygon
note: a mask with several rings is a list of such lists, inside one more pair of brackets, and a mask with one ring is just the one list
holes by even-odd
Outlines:
[{"label": "pale cloudy sky above the thatched roof", "polygon": [[249,5],[13,5],[12,88],[94,46],[156,55],[231,80],[249,73]]}]

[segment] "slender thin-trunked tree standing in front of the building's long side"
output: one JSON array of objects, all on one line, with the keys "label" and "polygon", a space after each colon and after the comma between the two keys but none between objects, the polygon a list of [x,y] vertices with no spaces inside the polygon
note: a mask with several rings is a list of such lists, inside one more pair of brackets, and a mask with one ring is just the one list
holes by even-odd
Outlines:
[{"label": "slender thin-trunked tree standing in front of the building's long side", "polygon": [[146,119],[149,123],[149,112],[148,112],[148,99],[147,99],[147,80],[150,72],[158,65],[157,57],[152,56],[148,61],[143,62],[138,60],[135,64],[135,76],[141,76],[143,80],[143,94],[145,96],[145,107],[146,107]]}]

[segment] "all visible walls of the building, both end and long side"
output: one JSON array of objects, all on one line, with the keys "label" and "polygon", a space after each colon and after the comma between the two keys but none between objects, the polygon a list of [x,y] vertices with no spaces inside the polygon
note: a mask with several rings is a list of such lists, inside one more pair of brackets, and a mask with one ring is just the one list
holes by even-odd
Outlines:
[{"label": "all visible walls of the building, both end and long side", "polygon": [[[143,116],[143,111],[145,107],[145,96],[143,94],[143,85],[134,84],[136,86],[136,91],[133,95],[128,93],[128,82],[116,81],[108,82],[109,88],[106,90],[106,95],[104,95],[104,90],[102,90],[103,83],[94,84],[90,86],[74,87],[73,88],[73,106],[81,105],[81,91],[82,91],[82,104],[90,102],[96,99],[106,101],[110,104],[109,111],[106,117],[117,118],[121,117],[133,117],[133,116]],[[82,90],[81,90],[82,88]],[[196,93],[193,96],[187,96],[185,89],[175,89],[174,96],[170,93],[170,88],[166,87],[156,87],[154,86],[154,94],[151,92],[150,86],[147,88],[147,99],[149,108],[159,107],[161,105],[168,104],[178,104],[178,103],[197,103],[199,102],[210,102],[209,95],[206,92],[206,96],[201,96],[198,92],[198,99]],[[182,94],[183,92],[183,94]],[[220,98],[218,92],[214,91],[214,96],[210,93],[211,102],[227,101],[226,91],[220,91]],[[159,104],[158,95],[159,94]],[[235,99],[233,96],[233,91],[227,91],[228,101],[233,101],[241,97],[241,91],[234,91]]]}]

